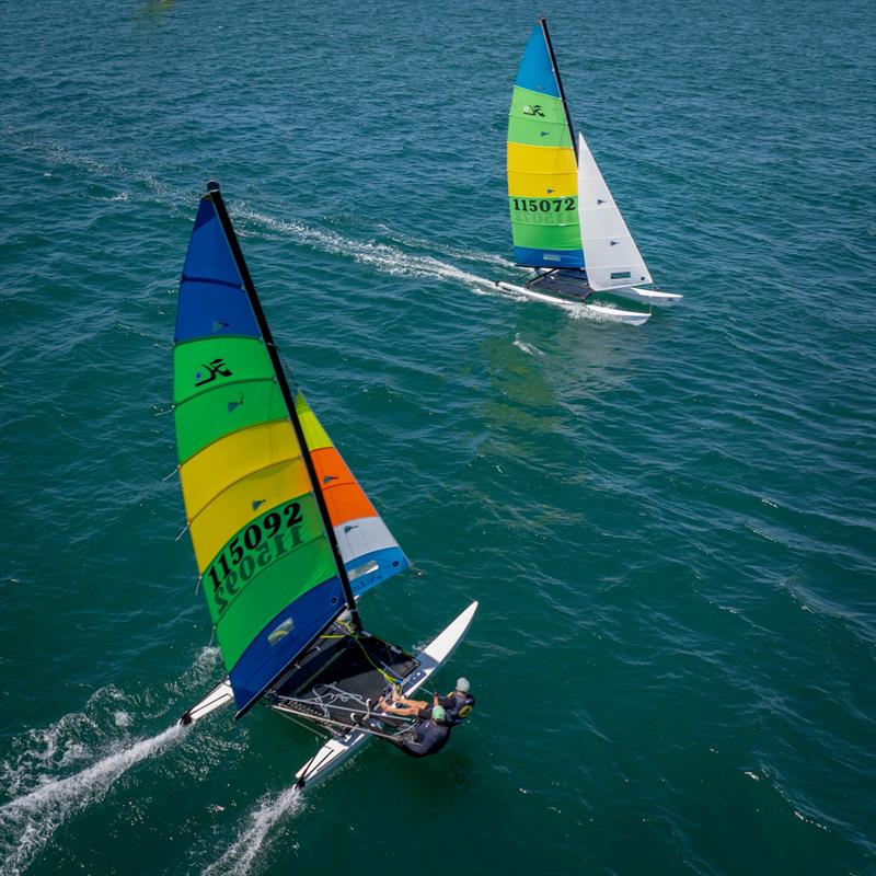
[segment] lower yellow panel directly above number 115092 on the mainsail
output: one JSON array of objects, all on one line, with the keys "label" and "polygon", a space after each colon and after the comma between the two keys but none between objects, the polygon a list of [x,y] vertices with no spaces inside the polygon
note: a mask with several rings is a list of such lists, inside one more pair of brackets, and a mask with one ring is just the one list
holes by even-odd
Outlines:
[{"label": "lower yellow panel directly above number 115092 on the mainsail", "polygon": [[198,572],[204,574],[229,538],[260,511],[297,498],[310,489],[307,466],[299,458],[253,472],[220,493],[189,527]]}]

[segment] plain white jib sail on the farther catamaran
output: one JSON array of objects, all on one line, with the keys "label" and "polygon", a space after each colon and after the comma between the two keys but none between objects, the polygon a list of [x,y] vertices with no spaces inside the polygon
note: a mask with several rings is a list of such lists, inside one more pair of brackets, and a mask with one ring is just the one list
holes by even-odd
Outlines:
[{"label": "plain white jib sail on the farther catamaran", "polygon": [[599,172],[584,135],[578,134],[578,222],[584,266],[591,289],[653,283],[636,242]]}]

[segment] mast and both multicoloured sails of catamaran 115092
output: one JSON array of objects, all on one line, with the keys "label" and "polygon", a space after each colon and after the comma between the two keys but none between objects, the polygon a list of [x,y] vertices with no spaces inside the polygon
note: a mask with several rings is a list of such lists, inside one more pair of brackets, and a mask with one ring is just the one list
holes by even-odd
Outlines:
[{"label": "mast and both multicoloured sails of catamaran 115092", "polygon": [[188,530],[240,715],[345,607],[358,624],[351,580],[362,591],[407,561],[293,399],[208,188],[180,283],[173,399]]}]

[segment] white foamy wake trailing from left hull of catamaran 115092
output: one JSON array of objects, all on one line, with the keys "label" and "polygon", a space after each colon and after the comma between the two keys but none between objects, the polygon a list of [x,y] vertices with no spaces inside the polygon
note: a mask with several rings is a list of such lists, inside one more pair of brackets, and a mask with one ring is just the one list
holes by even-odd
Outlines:
[{"label": "white foamy wake trailing from left hull of catamaran 115092", "polygon": [[68,816],[101,799],[123,773],[171,745],[183,729],[173,726],[118,748],[67,779],[45,777],[33,791],[0,806],[0,872],[21,873]]}]

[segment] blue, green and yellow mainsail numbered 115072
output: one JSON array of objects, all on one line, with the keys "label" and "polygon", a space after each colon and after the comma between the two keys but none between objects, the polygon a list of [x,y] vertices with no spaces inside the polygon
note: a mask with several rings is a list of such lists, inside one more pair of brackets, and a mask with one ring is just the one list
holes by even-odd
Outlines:
[{"label": "blue, green and yellow mainsail numbered 115072", "polygon": [[544,19],[532,28],[511,97],[508,207],[515,262],[584,265],[572,122]]}]

